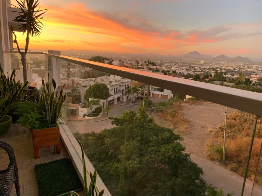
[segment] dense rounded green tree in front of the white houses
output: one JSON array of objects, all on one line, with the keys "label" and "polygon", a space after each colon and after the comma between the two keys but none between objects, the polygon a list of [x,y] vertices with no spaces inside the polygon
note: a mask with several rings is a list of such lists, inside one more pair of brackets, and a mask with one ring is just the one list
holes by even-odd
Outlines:
[{"label": "dense rounded green tree in front of the white houses", "polygon": [[95,99],[107,99],[110,96],[109,94],[109,88],[106,86],[106,84],[94,84],[90,86],[85,91],[85,97],[88,101],[89,98],[95,98]]}]

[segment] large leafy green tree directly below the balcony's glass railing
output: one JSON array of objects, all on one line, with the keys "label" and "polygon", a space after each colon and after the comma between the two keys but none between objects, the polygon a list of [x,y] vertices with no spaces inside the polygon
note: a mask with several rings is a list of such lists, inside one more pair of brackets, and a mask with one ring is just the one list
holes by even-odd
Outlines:
[{"label": "large leafy green tree directly below the balcony's glass railing", "polygon": [[203,171],[179,135],[140,107],[125,111],[100,133],[75,134],[112,195],[204,195]]}]

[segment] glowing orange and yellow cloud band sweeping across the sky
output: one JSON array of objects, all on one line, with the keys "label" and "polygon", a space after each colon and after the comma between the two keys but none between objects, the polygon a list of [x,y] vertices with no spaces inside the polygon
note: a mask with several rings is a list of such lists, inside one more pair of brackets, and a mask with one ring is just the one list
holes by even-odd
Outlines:
[{"label": "glowing orange and yellow cloud band sweeping across the sky", "polygon": [[[161,0],[151,1],[152,3]],[[133,1],[134,2],[134,1]],[[138,14],[97,12],[85,2],[44,5],[46,28],[40,38],[30,39],[34,49],[75,49],[113,52],[174,54],[184,47],[244,38],[256,33],[231,32],[235,26],[182,31],[154,26]],[[239,27],[237,27],[239,28]],[[245,28],[245,27],[243,27]],[[19,33],[18,33],[19,34]],[[260,33],[261,34],[261,33]],[[19,43],[24,37],[18,36]],[[21,46],[22,47],[22,46]]]}]

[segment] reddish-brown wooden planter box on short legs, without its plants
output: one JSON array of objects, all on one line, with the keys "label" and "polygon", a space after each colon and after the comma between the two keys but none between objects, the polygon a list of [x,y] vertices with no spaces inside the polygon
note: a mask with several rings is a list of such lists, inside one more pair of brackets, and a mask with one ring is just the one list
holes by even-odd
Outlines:
[{"label": "reddish-brown wooden planter box on short legs, without its plants", "polygon": [[54,145],[54,154],[60,153],[60,132],[59,127],[32,130],[34,156],[40,158],[39,148]]}]

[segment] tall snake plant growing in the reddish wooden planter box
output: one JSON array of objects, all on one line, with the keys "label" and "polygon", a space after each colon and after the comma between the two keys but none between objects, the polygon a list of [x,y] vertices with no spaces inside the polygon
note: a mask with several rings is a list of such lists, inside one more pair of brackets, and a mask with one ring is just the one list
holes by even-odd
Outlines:
[{"label": "tall snake plant growing in the reddish wooden planter box", "polygon": [[51,90],[49,86],[49,80],[46,84],[44,80],[42,80],[40,103],[42,104],[42,108],[44,108],[43,116],[48,127],[57,126],[57,121],[58,118],[60,118],[60,112],[66,99],[66,95],[63,93],[63,88],[60,90],[60,93],[58,93],[56,81],[53,78],[52,85],[53,90]]}]

